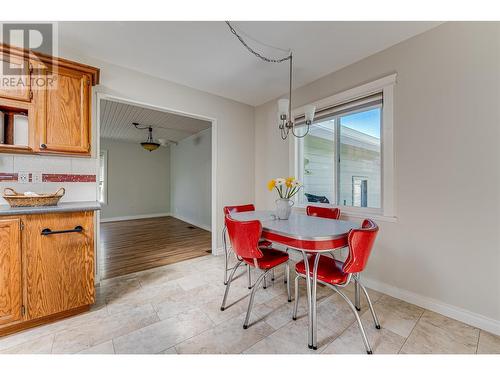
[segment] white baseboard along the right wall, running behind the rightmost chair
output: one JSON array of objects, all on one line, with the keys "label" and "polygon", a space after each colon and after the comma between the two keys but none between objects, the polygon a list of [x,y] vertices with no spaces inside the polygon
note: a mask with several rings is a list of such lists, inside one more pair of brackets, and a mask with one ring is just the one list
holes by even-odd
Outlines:
[{"label": "white baseboard along the right wall, running behind the rightmost chair", "polygon": [[391,297],[398,298],[414,305],[423,307],[424,309],[431,310],[449,318],[459,320],[463,323],[483,329],[495,335],[500,335],[500,321],[498,320],[491,319],[487,316],[477,314],[460,307],[449,305],[447,303],[438,301],[430,297],[422,296],[408,290],[400,289],[381,281],[367,279],[365,277],[362,278],[362,281],[363,285],[376,290],[377,292],[387,294]]}]

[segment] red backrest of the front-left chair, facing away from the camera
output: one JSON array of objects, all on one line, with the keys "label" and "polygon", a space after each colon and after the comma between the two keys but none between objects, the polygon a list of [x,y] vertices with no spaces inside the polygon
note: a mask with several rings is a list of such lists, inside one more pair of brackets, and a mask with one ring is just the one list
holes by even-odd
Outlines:
[{"label": "red backrest of the front-left chair, facing away from the camera", "polygon": [[238,221],[226,215],[226,227],[233,246],[233,251],[241,258],[262,258],[259,239],[262,224],[259,220]]}]

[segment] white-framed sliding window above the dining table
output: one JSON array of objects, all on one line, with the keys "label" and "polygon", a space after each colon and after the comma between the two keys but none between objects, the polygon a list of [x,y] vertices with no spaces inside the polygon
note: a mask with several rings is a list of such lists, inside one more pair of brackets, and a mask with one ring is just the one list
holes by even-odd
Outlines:
[{"label": "white-framed sliding window above the dining table", "polygon": [[[299,205],[330,203],[345,211],[394,216],[394,82],[395,75],[314,103],[319,109],[309,134],[293,145],[294,174],[304,184]],[[294,114],[300,125],[303,115]]]}]

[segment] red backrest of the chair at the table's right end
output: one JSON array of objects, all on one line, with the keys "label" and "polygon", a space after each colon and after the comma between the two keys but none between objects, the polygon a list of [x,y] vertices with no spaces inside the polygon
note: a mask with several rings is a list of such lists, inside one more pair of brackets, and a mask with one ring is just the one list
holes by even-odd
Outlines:
[{"label": "red backrest of the chair at the table's right end", "polygon": [[365,269],[377,233],[378,226],[370,219],[363,221],[361,229],[349,232],[349,255],[342,268],[345,273],[358,273]]}]

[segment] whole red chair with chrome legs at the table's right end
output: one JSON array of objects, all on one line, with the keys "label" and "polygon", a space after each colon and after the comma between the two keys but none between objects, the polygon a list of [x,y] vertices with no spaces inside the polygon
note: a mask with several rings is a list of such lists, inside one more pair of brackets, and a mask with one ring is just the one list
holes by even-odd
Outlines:
[{"label": "whole red chair with chrome legs at the table's right end", "polygon": [[[339,288],[346,287],[351,279],[354,279],[358,285],[363,290],[368,305],[370,307],[370,312],[375,322],[375,328],[380,329],[380,323],[373,309],[372,302],[368,296],[368,292],[363,284],[359,281],[359,274],[365,269],[368,262],[368,257],[370,256],[371,250],[373,248],[373,243],[377,237],[378,226],[370,219],[365,219],[361,226],[361,229],[352,229],[348,236],[349,245],[349,255],[345,262],[332,259],[330,257],[319,255],[318,265],[317,265],[317,281],[323,285],[326,285],[336,291],[340,296],[347,302],[352,312],[354,313],[356,320],[358,322],[359,329],[361,331],[361,336],[363,336],[363,342],[365,344],[366,352],[372,354],[372,349],[370,343],[366,337],[363,324],[359,318],[358,311],[351,300],[342,292]],[[314,268],[314,258],[309,257],[309,273],[311,277],[313,276]],[[297,277],[295,278],[295,306],[293,309],[293,319],[297,319],[297,308],[299,304],[299,278],[305,278],[305,263],[301,261],[295,265],[295,271],[297,272]]]}]

